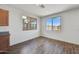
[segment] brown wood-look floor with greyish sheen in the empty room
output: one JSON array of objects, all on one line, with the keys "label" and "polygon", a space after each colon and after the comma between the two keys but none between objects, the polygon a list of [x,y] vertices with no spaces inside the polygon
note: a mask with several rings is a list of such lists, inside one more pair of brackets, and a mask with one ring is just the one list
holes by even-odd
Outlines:
[{"label": "brown wood-look floor with greyish sheen in the empty room", "polygon": [[79,46],[38,37],[11,48],[8,54],[78,54]]}]

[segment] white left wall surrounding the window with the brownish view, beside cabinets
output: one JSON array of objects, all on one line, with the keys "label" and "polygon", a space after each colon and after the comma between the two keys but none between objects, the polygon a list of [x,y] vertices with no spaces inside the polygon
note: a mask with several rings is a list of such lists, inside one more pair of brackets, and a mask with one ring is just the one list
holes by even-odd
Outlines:
[{"label": "white left wall surrounding the window with the brownish view, beside cabinets", "polygon": [[[23,41],[38,37],[40,35],[40,20],[37,20],[37,30],[23,31],[21,16],[34,16],[31,13],[24,12],[17,8],[0,5],[1,9],[6,9],[9,11],[9,26],[0,26],[0,32],[9,31],[10,32],[10,45],[21,43]],[[36,17],[36,16],[34,16]]]}]

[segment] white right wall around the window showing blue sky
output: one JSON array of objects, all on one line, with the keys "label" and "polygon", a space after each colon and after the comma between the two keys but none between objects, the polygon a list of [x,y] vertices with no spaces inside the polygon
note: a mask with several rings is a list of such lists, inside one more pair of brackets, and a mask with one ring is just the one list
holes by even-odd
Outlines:
[{"label": "white right wall around the window showing blue sky", "polygon": [[[46,30],[46,19],[54,16],[61,16],[61,32]],[[43,19],[41,19],[41,22],[42,36],[79,44],[79,9],[73,9],[63,13],[44,17]]]}]

